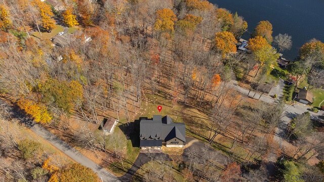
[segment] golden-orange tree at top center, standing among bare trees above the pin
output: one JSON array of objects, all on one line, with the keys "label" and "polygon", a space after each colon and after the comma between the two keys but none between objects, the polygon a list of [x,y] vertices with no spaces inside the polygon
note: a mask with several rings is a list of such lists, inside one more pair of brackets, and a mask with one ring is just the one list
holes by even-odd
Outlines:
[{"label": "golden-orange tree at top center, standing among bare trees above the pin", "polygon": [[156,21],[154,23],[154,30],[173,32],[174,22],[177,16],[168,8],[156,11]]}]

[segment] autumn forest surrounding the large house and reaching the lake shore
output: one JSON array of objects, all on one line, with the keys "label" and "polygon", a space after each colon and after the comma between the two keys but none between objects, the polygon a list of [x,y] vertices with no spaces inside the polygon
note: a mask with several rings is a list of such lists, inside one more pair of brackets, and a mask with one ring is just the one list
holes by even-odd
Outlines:
[{"label": "autumn forest surrounding the large house and reaching the lake shore", "polygon": [[[244,52],[247,29],[205,0],[1,1],[0,181],[105,180],[34,125],[120,181],[322,181],[324,43],[282,68],[292,37],[260,21]],[[282,93],[262,88],[281,80]],[[297,104],[302,89],[311,106]],[[184,122],[192,142],[143,153],[135,120],[153,114]]]}]

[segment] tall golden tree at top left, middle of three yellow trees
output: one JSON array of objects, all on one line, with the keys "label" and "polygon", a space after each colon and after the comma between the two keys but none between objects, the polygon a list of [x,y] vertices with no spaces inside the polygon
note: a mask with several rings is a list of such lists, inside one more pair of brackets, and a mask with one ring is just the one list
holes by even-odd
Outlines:
[{"label": "tall golden tree at top left, middle of three yellow trees", "polygon": [[48,4],[41,2],[41,0],[33,0],[31,4],[38,9],[43,29],[49,32],[53,30],[55,28],[55,20],[52,19],[54,14],[51,7]]}]

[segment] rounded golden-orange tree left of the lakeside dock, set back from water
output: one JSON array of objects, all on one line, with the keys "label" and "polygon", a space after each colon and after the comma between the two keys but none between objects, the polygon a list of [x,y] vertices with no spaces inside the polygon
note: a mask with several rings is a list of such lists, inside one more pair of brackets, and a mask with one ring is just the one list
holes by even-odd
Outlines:
[{"label": "rounded golden-orange tree left of the lakeside dock, set back from water", "polygon": [[237,43],[237,41],[232,32],[217,32],[215,35],[215,48],[222,53],[223,58],[229,53],[236,53],[235,43]]}]

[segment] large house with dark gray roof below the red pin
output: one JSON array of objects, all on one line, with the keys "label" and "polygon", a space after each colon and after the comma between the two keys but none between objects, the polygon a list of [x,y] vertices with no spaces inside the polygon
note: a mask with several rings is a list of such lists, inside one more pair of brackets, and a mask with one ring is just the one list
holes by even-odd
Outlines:
[{"label": "large house with dark gray roof below the red pin", "polygon": [[186,126],[175,123],[171,117],[153,115],[151,119],[140,121],[140,148],[160,149],[166,147],[184,147],[186,143]]}]

